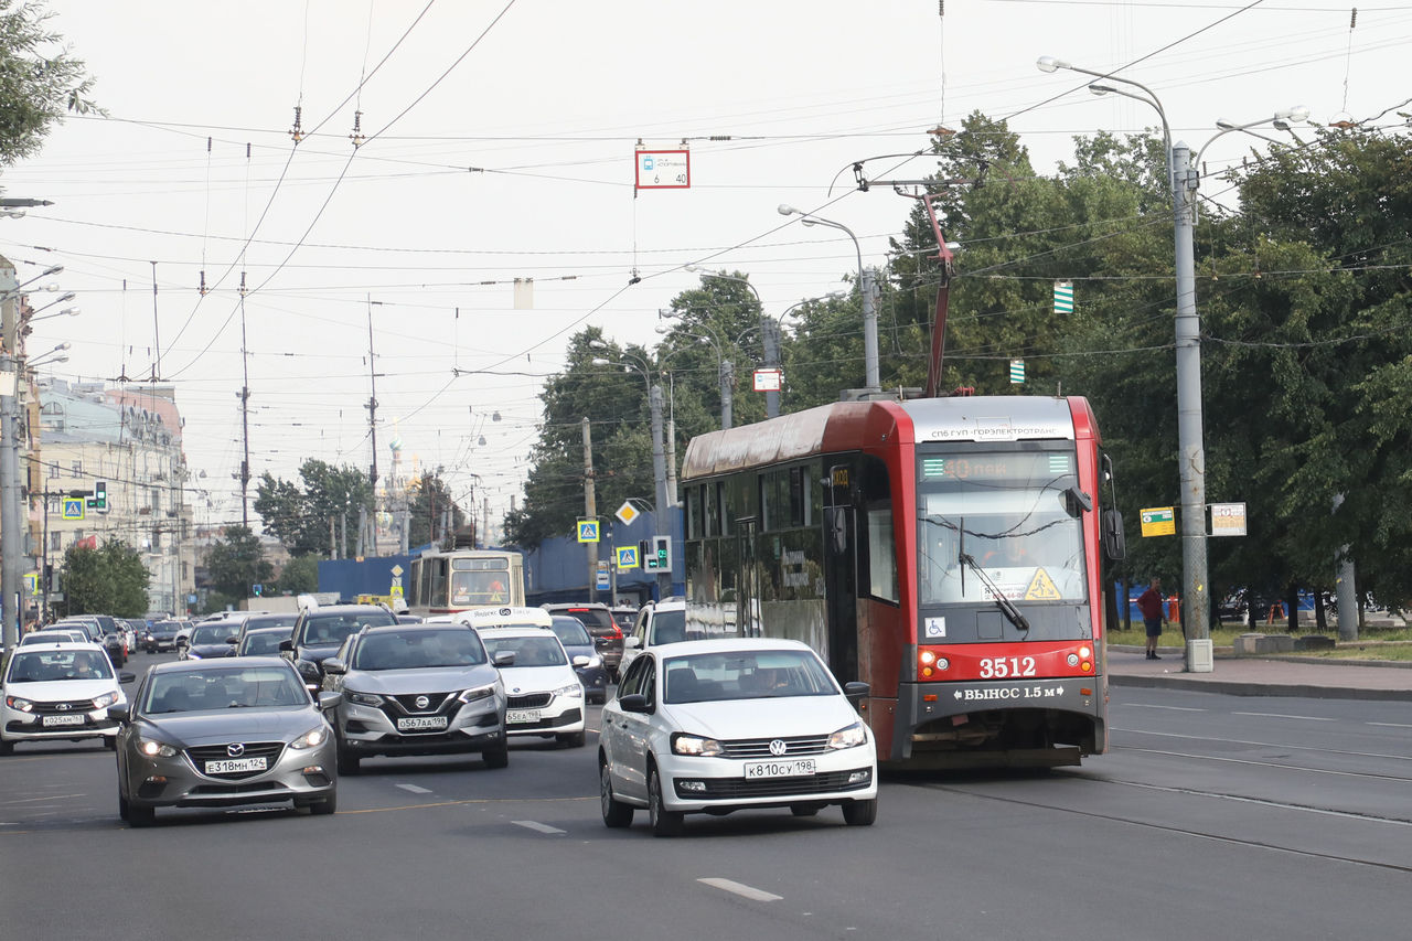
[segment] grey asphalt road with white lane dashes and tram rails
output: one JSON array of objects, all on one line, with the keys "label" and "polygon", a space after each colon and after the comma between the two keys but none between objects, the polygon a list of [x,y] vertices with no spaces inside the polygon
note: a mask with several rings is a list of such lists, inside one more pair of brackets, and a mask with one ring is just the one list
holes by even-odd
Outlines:
[{"label": "grey asphalt road with white lane dashes and tram rails", "polygon": [[[140,656],[141,670],[152,658]],[[597,709],[592,711],[596,726]],[[1412,704],[1117,688],[1051,774],[890,774],[837,808],[599,818],[589,746],[373,759],[339,812],[117,818],[112,753],[0,759],[6,938],[1392,938]]]}]

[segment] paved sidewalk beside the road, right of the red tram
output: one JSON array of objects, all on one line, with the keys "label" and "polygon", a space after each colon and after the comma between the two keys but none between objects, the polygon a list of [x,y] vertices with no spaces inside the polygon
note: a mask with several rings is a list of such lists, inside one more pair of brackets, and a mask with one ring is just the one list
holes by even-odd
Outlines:
[{"label": "paved sidewalk beside the road, right of the red tram", "polygon": [[1313,657],[1223,657],[1211,673],[1186,673],[1183,651],[1162,647],[1148,660],[1142,647],[1108,644],[1108,682],[1115,687],[1200,690],[1237,697],[1309,697],[1412,702],[1412,663],[1327,661]]}]

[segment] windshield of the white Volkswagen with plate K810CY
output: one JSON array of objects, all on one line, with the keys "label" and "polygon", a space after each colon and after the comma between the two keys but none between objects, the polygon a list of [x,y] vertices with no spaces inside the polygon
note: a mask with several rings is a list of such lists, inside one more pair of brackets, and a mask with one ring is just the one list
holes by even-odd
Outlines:
[{"label": "windshield of the white Volkswagen with plate K810CY", "polygon": [[731,650],[669,657],[664,699],[719,702],[779,697],[827,697],[839,685],[808,650]]}]

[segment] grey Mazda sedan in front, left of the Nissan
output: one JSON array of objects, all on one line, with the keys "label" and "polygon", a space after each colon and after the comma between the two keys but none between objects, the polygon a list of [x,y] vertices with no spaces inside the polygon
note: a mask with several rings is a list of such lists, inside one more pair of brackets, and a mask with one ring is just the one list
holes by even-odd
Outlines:
[{"label": "grey Mazda sedan in front, left of the Nissan", "polygon": [[315,704],[278,657],[178,660],[154,665],[131,708],[113,708],[117,808],[133,827],[158,807],[292,801],[312,814],[337,807],[337,754],[323,718],[342,697]]}]

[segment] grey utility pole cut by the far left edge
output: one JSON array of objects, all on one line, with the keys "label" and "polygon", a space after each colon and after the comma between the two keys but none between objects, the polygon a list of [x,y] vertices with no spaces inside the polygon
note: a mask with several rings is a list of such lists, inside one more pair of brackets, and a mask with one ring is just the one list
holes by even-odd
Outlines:
[{"label": "grey utility pole cut by the far left edge", "polygon": [[4,649],[20,643],[20,442],[16,438],[16,389],[20,362],[18,338],[20,281],[14,266],[0,257],[0,304],[4,355],[0,357],[0,592],[4,603]]}]

